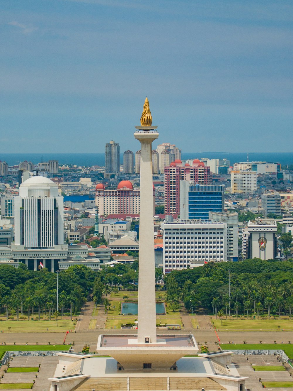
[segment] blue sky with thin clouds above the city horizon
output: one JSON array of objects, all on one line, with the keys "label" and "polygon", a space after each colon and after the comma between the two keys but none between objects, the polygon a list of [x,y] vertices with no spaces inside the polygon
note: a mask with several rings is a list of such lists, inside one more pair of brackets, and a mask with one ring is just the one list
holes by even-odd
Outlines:
[{"label": "blue sky with thin clouds above the city horizon", "polygon": [[[1,152],[291,152],[291,1],[2,0]],[[155,147],[155,145],[154,145]]]}]

